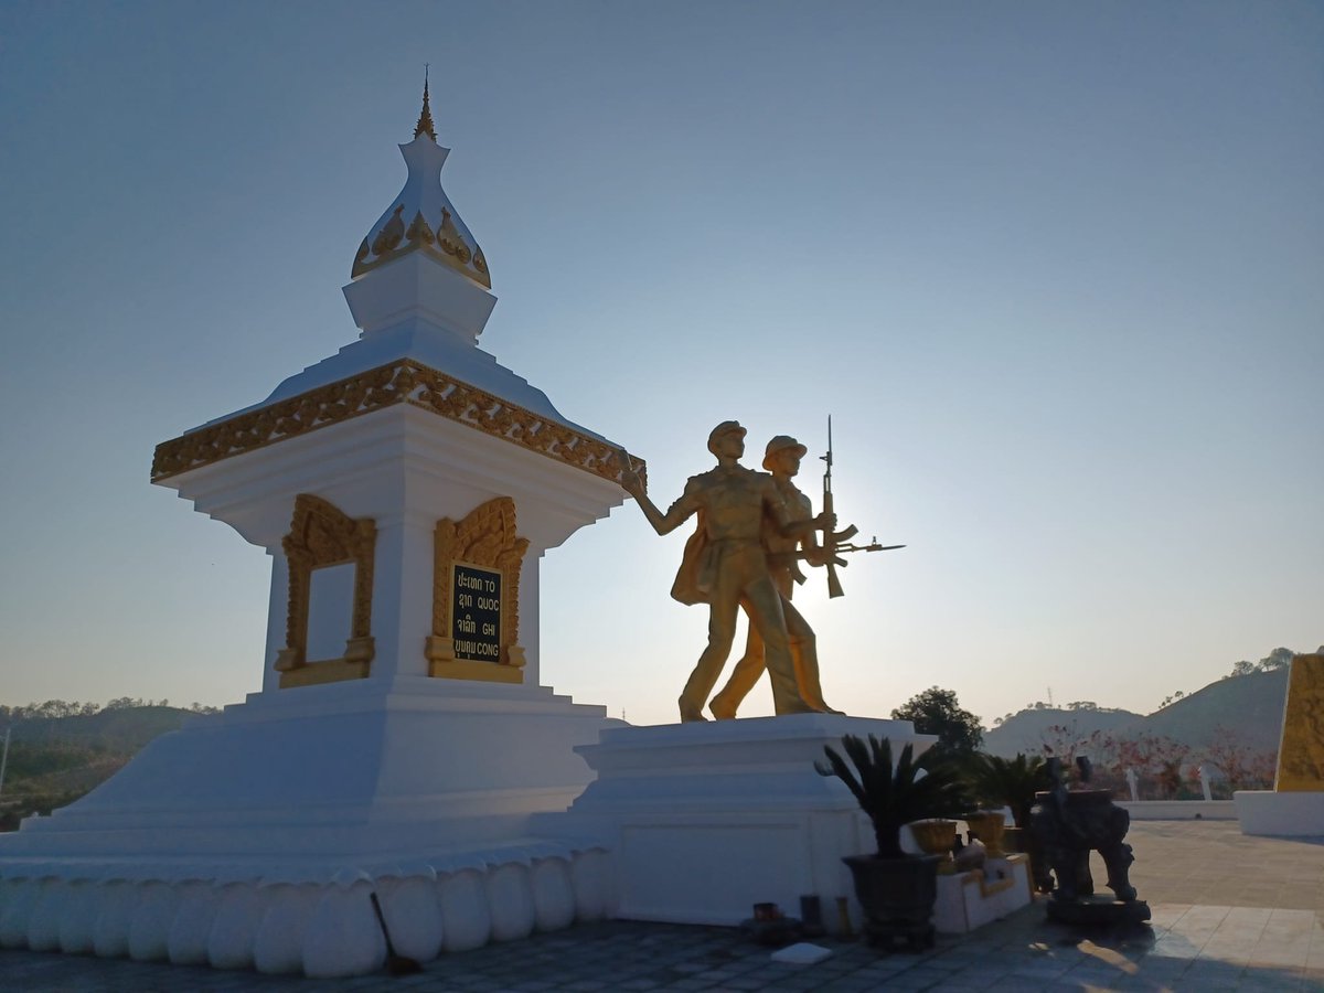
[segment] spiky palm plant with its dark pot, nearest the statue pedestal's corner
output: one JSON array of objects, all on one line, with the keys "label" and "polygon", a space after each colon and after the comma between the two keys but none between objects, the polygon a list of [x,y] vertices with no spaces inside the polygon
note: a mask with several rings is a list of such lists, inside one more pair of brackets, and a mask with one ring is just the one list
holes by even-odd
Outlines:
[{"label": "spiky palm plant with its dark pot, nearest the statue pedestal's corner", "polygon": [[[956,769],[945,761],[915,760],[914,745],[895,761],[887,739],[846,735],[842,756],[824,745],[822,776],[835,776],[854,794],[874,828],[876,853],[847,855],[855,896],[865,908],[870,944],[904,939],[912,948],[933,943],[933,903],[941,855],[910,855],[902,850],[902,828],[914,821],[948,817],[964,806]],[[849,760],[849,761],[847,761]]]}]

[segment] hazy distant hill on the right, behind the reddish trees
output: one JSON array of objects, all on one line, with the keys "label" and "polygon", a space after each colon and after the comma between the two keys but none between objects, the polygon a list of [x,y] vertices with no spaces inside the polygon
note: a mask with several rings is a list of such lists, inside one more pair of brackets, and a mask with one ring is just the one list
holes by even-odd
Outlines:
[{"label": "hazy distant hill on the right, behind the reddish trees", "polygon": [[992,755],[1014,756],[1038,752],[1045,731],[1053,726],[1074,730],[1075,737],[1106,731],[1116,737],[1161,735],[1193,749],[1213,744],[1218,728],[1235,731],[1255,752],[1278,748],[1287,699],[1287,670],[1235,675],[1210,683],[1189,696],[1149,715],[1125,710],[1023,710],[984,732],[984,748]]}]

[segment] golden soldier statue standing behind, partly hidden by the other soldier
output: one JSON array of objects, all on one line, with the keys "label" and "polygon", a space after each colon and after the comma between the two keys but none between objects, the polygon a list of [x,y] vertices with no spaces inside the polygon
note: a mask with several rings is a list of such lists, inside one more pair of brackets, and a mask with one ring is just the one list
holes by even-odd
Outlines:
[{"label": "golden soldier statue standing behind, partly hidden by the other soldier", "polygon": [[[813,504],[809,498],[792,482],[792,478],[800,471],[800,459],[805,457],[805,446],[789,434],[779,434],[768,442],[763,457],[763,467],[772,473],[777,493],[786,508],[786,516],[792,520],[808,520],[813,516]],[[814,540],[813,531],[801,538],[784,538],[772,527],[764,528],[763,543],[768,552],[768,568],[772,572],[773,585],[781,596],[781,612],[786,618],[786,634],[790,641],[800,695],[814,710],[837,714],[838,711],[824,703],[824,691],[818,682],[818,646],[813,628],[790,605],[794,584],[805,581],[805,576],[800,571],[800,548],[804,545],[806,561],[812,565],[821,565],[818,543]],[[736,667],[722,692],[714,696],[708,704],[712,716],[727,719],[736,715],[740,702],[763,675],[764,654],[759,629],[751,624],[744,655],[736,662]]]}]

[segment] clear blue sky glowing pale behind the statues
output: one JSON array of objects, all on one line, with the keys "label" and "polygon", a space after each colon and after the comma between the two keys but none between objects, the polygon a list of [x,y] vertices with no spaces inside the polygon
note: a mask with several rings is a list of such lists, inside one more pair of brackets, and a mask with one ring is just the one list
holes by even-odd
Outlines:
[{"label": "clear blue sky glowing pale behind the statues", "polygon": [[[154,446],[356,330],[432,64],[482,344],[650,463],[739,418],[866,536],[829,702],[1152,710],[1324,641],[1317,3],[0,7],[0,702],[261,683],[265,555]],[[816,495],[816,462],[804,489]],[[673,720],[706,617],[632,504],[543,678]],[[768,712],[760,687],[748,712]]]}]

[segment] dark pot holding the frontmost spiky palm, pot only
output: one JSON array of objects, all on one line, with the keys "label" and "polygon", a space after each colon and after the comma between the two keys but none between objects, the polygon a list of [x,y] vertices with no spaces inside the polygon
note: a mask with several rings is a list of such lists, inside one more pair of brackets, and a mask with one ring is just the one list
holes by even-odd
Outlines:
[{"label": "dark pot holding the frontmost spiky palm, pot only", "polygon": [[919,949],[933,944],[933,903],[937,900],[940,855],[847,855],[842,859],[855,880],[855,898],[865,908],[869,943],[904,940]]}]

